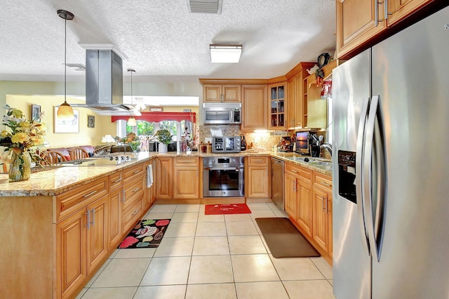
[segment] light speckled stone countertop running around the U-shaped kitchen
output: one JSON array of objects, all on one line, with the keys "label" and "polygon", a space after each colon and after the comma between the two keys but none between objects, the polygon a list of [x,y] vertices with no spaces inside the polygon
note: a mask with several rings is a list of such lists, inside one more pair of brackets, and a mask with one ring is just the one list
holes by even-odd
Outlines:
[{"label": "light speckled stone countertop running around the U-shaped kitchen", "polygon": [[[130,153],[127,153],[130,154]],[[137,159],[120,164],[119,166],[62,166],[60,168],[48,171],[39,171],[32,173],[29,180],[21,182],[9,182],[8,174],[0,174],[0,197],[27,197],[27,196],[55,196],[79,185],[87,184],[93,180],[104,178],[121,169],[128,168],[142,161],[153,159],[154,157],[217,157],[217,156],[270,156],[298,164],[319,173],[332,176],[332,167],[329,164],[309,164],[297,160],[302,157],[293,153],[275,153],[275,152],[240,152],[235,154],[203,154],[192,152],[192,154],[177,154],[168,152],[159,154],[158,152],[140,152]],[[313,158],[312,158],[313,159]]]}]

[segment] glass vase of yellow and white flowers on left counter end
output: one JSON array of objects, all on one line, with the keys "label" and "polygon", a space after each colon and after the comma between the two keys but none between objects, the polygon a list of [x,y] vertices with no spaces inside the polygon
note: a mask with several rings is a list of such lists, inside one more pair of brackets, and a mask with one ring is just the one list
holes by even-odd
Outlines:
[{"label": "glass vase of yellow and white flowers on left counter end", "polygon": [[41,124],[37,122],[42,114],[28,121],[21,110],[11,108],[9,105],[6,105],[5,109],[7,112],[3,124],[8,130],[1,131],[0,144],[7,146],[9,150],[9,180],[11,182],[28,180],[31,173],[31,148],[42,144],[45,134],[45,131],[41,130]]}]

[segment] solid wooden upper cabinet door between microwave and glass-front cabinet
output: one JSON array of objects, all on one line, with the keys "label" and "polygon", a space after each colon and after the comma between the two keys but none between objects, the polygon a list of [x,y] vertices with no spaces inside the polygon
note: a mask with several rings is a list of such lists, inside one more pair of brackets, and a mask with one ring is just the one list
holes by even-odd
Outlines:
[{"label": "solid wooden upper cabinet door between microwave and glass-front cabinet", "polygon": [[267,129],[267,84],[242,85],[241,130]]}]

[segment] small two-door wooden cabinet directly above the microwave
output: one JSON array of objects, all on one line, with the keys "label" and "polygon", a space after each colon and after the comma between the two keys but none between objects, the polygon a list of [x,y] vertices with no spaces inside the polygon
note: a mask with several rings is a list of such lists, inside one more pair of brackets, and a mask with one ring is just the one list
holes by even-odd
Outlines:
[{"label": "small two-door wooden cabinet directly above the microwave", "polygon": [[203,102],[241,102],[239,84],[203,85]]}]

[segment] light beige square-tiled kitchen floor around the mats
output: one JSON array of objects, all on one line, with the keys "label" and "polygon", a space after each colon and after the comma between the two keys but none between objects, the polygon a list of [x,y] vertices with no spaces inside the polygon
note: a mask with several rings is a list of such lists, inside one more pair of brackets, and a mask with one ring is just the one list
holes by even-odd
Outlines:
[{"label": "light beige square-tiled kitchen floor around the mats", "polygon": [[323,258],[273,258],[255,218],[285,217],[274,204],[252,213],[204,215],[204,205],[155,205],[170,218],[159,248],[117,249],[76,298],[334,299]]}]

